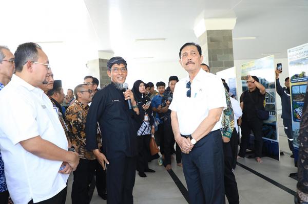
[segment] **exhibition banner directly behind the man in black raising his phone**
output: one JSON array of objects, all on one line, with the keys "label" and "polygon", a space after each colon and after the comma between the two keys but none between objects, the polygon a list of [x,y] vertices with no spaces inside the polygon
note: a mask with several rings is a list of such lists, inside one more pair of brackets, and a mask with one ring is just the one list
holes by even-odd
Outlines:
[{"label": "exhibition banner directly behind the man in black raising his phone", "polygon": [[[245,76],[251,75],[259,78],[260,83],[265,87],[264,108],[269,112],[268,120],[263,121],[262,153],[279,160],[279,137],[276,110],[276,85],[274,55],[247,62],[241,65],[242,89],[248,90]],[[254,134],[252,132],[249,140],[249,149],[254,149]]]}]

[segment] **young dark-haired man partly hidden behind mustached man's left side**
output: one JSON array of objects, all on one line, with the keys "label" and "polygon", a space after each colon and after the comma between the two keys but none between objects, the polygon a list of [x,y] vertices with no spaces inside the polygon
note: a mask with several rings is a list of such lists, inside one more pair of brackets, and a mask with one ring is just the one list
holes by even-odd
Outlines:
[{"label": "young dark-haired man partly hidden behind mustached man's left side", "polygon": [[[170,90],[166,91],[164,94],[164,97],[162,99],[162,112],[165,113],[164,117],[164,150],[165,150],[165,160],[164,160],[164,166],[166,170],[171,169],[171,154],[174,153],[174,145],[175,145],[175,137],[172,132],[172,126],[171,126],[171,110],[168,109],[170,103],[172,102],[173,93],[176,87],[176,83],[179,81],[177,76],[171,76],[169,77],[169,87]],[[177,165],[182,167],[182,154],[181,149],[177,144],[176,147],[176,159],[177,159]]]}]

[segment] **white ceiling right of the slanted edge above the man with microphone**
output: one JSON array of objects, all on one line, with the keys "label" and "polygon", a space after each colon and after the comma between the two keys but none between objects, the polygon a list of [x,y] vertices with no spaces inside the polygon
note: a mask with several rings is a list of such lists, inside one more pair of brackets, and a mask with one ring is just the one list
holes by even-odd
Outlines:
[{"label": "white ceiling right of the slanted edge above the man with microphone", "polygon": [[[84,0],[98,47],[131,60],[178,59],[179,48],[197,41],[193,28],[200,17],[237,17],[234,37],[235,59],[257,59],[275,54],[286,58],[286,50],[308,41],[308,1],[298,0]],[[166,38],[142,41],[139,38]],[[262,55],[263,53],[263,55]]]}]

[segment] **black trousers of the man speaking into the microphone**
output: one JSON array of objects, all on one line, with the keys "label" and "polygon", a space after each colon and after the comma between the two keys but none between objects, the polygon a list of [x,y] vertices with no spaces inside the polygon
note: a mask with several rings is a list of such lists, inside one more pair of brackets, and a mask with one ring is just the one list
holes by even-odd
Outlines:
[{"label": "black trousers of the man speaking into the microphone", "polygon": [[[108,157],[107,157],[108,158]],[[136,156],[129,157],[118,152],[109,158],[107,165],[107,203],[132,204],[132,189],[136,177]]]}]

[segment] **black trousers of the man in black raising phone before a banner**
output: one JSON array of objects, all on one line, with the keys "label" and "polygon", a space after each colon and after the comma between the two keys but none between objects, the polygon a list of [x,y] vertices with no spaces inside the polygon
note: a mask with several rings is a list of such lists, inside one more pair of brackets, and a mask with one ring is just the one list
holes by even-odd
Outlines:
[{"label": "black trousers of the man in black raising phone before a banner", "polygon": [[255,136],[255,157],[262,156],[262,145],[263,145],[262,124],[263,124],[263,121],[258,119],[257,117],[249,121],[242,120],[242,125],[241,125],[242,138],[241,138],[239,156],[245,157],[246,149],[249,143],[249,135],[252,130]]}]

